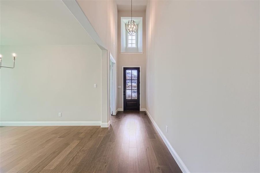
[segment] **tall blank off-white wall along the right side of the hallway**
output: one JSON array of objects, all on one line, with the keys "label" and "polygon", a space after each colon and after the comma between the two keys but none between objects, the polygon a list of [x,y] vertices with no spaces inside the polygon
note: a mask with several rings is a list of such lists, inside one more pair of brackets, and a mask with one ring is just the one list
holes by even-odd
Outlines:
[{"label": "tall blank off-white wall along the right side of the hallway", "polygon": [[189,171],[259,172],[259,1],[148,1],[146,19],[146,108]]}]

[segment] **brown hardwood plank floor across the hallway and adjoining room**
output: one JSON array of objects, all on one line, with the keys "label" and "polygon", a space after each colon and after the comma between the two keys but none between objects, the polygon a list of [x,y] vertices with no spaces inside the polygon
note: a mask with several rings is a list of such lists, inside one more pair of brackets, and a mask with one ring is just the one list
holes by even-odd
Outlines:
[{"label": "brown hardwood plank floor across the hallway and adjoining room", "polygon": [[0,128],[1,172],[181,172],[145,112],[111,126]]}]

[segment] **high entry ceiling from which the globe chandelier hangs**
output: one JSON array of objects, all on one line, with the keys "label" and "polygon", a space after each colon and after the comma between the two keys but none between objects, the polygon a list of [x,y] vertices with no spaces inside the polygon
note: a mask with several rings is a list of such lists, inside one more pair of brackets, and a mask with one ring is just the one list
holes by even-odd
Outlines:
[{"label": "high entry ceiling from which the globe chandelier hangs", "polygon": [[[116,0],[118,11],[130,11],[131,0]],[[133,11],[145,11],[147,0],[133,0],[132,10]]]}]

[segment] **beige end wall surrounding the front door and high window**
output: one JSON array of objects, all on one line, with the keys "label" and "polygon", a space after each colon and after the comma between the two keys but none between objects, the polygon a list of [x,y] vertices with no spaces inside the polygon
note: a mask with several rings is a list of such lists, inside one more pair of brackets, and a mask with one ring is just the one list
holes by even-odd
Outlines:
[{"label": "beige end wall surrounding the front door and high window", "polygon": [[[129,17],[131,12],[119,11],[118,12],[118,31],[121,31],[121,17]],[[145,47],[146,47],[146,35],[145,35],[145,12],[133,12],[133,17],[143,17],[143,54],[121,54],[121,33],[117,33],[117,43],[118,43],[118,58],[117,58],[117,86],[121,88],[117,89],[117,108],[122,108],[122,94],[123,94],[123,84],[122,84],[122,66],[141,66],[140,73],[140,90],[141,90],[141,108],[145,108],[146,105],[146,63],[145,63]]]}]

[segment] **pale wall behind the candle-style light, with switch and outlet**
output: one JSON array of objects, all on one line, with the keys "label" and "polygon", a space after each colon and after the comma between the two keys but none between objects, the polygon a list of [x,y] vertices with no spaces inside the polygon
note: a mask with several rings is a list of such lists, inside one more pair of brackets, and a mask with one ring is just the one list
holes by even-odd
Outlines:
[{"label": "pale wall behind the candle-style light, with switch and outlet", "polygon": [[1,68],[1,122],[101,121],[97,45],[1,46],[2,65],[12,52],[16,67]]}]

